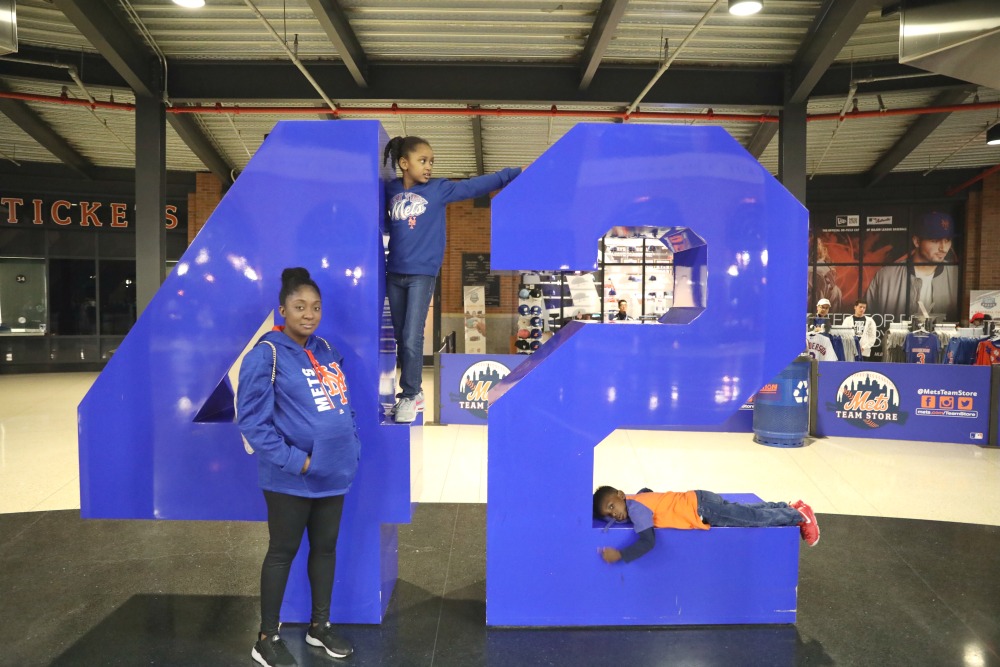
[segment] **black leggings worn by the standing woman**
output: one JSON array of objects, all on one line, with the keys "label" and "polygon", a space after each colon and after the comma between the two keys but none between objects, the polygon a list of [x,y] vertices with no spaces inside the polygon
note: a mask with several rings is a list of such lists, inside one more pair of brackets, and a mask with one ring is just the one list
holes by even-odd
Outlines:
[{"label": "black leggings worn by the standing woman", "polygon": [[344,496],[302,498],[265,491],[267,530],[270,541],[260,569],[260,631],[278,633],[281,601],[285,597],[288,572],[309,529],[309,588],[312,591],[312,622],[330,620],[330,597],[337,565],[337,535]]}]

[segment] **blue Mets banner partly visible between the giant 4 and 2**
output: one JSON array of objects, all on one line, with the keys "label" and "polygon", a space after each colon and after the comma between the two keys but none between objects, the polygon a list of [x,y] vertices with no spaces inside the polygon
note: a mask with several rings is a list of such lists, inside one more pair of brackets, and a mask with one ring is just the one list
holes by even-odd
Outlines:
[{"label": "blue Mets banner partly visible between the giant 4 and 2", "polygon": [[490,388],[528,358],[523,354],[442,354],[442,424],[486,424]]}]

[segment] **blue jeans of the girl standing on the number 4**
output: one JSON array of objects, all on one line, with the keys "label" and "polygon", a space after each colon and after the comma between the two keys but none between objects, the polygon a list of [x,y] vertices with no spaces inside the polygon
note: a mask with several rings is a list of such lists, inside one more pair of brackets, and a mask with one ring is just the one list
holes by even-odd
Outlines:
[{"label": "blue jeans of the girl standing on the number 4", "polygon": [[436,281],[436,276],[386,274],[385,293],[389,297],[400,368],[397,398],[413,398],[420,393],[424,371],[424,322]]}]

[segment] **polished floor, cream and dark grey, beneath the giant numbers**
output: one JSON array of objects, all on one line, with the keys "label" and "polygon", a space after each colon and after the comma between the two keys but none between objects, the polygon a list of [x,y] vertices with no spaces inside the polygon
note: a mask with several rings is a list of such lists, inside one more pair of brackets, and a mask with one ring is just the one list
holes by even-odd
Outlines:
[{"label": "polished floor, cream and dark grey, beneath the giant numbers", "polygon": [[[262,524],[83,521],[75,405],[92,374],[0,376],[0,665],[251,665]],[[967,445],[619,431],[595,482],[802,497],[794,626],[485,627],[486,434],[427,426],[381,625],[301,665],[1000,665],[1000,456]],[[585,585],[582,582],[581,585]]]}]

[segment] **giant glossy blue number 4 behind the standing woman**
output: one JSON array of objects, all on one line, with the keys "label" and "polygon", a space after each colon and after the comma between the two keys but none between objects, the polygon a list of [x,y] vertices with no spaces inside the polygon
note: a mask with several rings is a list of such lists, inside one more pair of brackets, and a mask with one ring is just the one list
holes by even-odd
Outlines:
[{"label": "giant glossy blue number 4 behind the standing woman", "polygon": [[[276,308],[281,270],[306,267],[323,292],[319,334],[344,355],[363,449],[338,549],[340,622],[381,621],[394,524],[410,520],[408,429],[380,424],[380,369],[394,365],[379,350],[386,140],[373,121],[279,123],[79,409],[84,517],[264,519],[227,373]],[[301,556],[286,622],[309,619]]]}]

